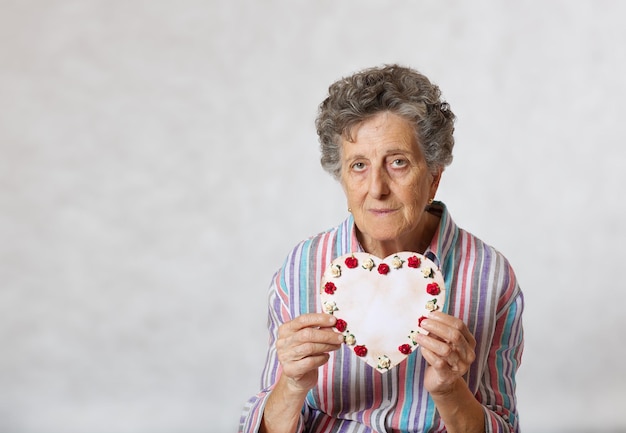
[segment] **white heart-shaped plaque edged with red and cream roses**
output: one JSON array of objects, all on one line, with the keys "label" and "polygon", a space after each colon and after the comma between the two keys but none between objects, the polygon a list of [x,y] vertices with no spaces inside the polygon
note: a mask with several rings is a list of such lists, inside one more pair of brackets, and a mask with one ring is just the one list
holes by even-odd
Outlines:
[{"label": "white heart-shaped plaque edged with red and cream roses", "polygon": [[399,252],[380,259],[368,253],[338,257],[322,276],[322,309],[356,356],[379,372],[406,359],[418,346],[421,320],[443,308],[445,285],[435,263]]}]

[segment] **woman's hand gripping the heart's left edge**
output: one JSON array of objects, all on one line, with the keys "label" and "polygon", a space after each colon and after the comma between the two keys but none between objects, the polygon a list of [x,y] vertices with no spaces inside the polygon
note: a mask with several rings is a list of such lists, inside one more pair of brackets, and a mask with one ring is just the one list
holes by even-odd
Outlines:
[{"label": "woman's hand gripping the heart's left edge", "polygon": [[337,319],[325,313],[296,317],[278,328],[276,351],[282,365],[282,378],[292,392],[306,393],[317,383],[317,369],[329,352],[343,343],[343,335],[332,329]]}]

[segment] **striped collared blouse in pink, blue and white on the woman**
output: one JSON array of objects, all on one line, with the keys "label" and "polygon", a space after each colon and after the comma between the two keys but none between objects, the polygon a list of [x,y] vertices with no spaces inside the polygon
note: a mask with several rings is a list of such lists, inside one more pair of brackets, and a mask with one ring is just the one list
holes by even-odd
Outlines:
[{"label": "striped collared blouse in pink, blue and white on the woman", "polygon": [[[507,259],[450,217],[443,203],[437,233],[424,254],[437,263],[447,289],[443,311],[462,319],[477,341],[476,360],[465,376],[483,405],[487,432],[518,432],[515,373],[523,349],[523,295]],[[240,432],[259,429],[265,402],[280,373],[278,327],[309,312],[321,312],[322,274],[344,254],[363,251],[352,216],[338,227],[300,243],[275,274],[269,293],[270,342],[262,390],[244,407]],[[320,367],[318,384],[302,407],[298,432],[445,432],[432,398],[423,388],[426,362],[419,350],[379,373],[349,348],[332,352]]]}]

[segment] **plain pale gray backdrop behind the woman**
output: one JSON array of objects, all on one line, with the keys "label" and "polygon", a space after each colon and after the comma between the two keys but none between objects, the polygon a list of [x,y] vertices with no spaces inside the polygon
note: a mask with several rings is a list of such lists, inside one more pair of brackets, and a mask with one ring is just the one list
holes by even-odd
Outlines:
[{"label": "plain pale gray backdrop behind the woman", "polygon": [[526,433],[626,431],[626,4],[0,0],[0,432],[229,432],[266,291],[346,215],[327,86],[400,62],[525,290]]}]

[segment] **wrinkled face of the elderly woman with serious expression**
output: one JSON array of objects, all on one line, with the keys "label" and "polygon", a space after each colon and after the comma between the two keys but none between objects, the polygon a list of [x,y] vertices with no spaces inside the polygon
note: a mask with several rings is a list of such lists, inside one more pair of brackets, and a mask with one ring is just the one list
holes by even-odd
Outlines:
[{"label": "wrinkled face of the elderly woman with serious expression", "polygon": [[352,135],[342,141],[341,183],[363,246],[391,254],[419,245],[441,172],[430,171],[413,128],[396,114],[380,113]]}]

